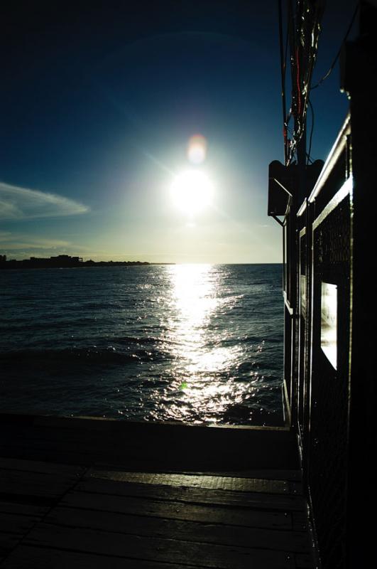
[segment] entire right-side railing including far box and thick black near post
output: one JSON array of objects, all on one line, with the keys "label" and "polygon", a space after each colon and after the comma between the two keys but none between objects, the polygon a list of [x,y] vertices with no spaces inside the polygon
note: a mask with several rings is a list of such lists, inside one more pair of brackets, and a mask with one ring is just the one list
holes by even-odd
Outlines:
[{"label": "entire right-side railing including far box and thick black near post", "polygon": [[[366,2],[360,26],[343,65],[349,116],[321,171],[270,165],[268,213],[283,218],[286,405],[323,569],[376,556],[377,9]],[[285,210],[277,182],[292,196]]]}]

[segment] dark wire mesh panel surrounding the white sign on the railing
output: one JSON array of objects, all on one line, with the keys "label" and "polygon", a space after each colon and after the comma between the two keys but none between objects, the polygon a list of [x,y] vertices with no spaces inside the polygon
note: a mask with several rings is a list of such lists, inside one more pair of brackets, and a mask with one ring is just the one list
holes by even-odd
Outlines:
[{"label": "dark wire mesh panel surrounding the white sign on the railing", "polygon": [[[349,405],[349,197],[313,233],[312,393],[308,482],[324,568],[344,567]],[[337,369],[321,348],[322,283],[337,286]]]}]

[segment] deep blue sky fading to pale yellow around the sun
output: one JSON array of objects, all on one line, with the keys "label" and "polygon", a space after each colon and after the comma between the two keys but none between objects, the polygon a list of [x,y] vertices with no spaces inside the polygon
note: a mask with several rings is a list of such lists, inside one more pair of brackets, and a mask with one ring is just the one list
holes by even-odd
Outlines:
[{"label": "deep blue sky fading to pale yellow around the sun", "polygon": [[[327,1],[314,83],[355,6]],[[283,161],[275,0],[18,2],[2,27],[1,254],[281,262],[267,216],[268,164]],[[311,156],[326,159],[349,104],[338,66],[311,100]],[[195,211],[171,189],[192,170],[213,193]]]}]

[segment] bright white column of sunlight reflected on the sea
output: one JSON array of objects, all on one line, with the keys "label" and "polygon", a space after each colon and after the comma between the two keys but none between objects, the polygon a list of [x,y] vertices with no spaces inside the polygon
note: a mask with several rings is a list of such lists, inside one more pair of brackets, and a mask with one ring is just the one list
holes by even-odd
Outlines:
[{"label": "bright white column of sunlight reflected on the sea", "polygon": [[[171,418],[185,420],[193,412],[207,422],[217,422],[219,414],[253,396],[253,385],[234,381],[239,378],[222,373],[237,367],[240,346],[221,346],[236,332],[229,319],[229,331],[216,324],[222,306],[229,313],[240,296],[224,297],[219,271],[213,265],[175,265],[170,267],[172,285],[168,341],[175,356],[177,380],[166,391],[180,405],[170,405]],[[170,347],[171,349],[171,347]],[[243,410],[245,414],[248,409]]]}]

